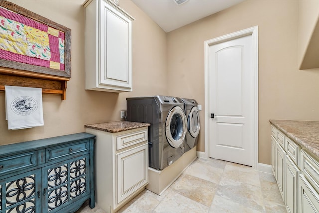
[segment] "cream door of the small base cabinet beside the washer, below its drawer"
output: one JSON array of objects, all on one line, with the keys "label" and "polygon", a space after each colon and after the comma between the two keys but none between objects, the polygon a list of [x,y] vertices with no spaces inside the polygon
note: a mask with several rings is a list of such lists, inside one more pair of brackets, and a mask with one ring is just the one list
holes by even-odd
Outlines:
[{"label": "cream door of the small base cabinet beside the washer, below its drawer", "polygon": [[116,204],[148,183],[148,144],[116,154]]}]

